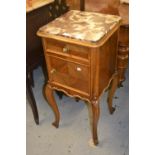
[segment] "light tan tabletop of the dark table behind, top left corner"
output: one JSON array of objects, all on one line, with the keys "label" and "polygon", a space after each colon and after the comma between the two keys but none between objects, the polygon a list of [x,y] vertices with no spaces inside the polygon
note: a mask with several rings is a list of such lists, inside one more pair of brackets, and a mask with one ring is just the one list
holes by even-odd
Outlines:
[{"label": "light tan tabletop of the dark table behind, top left corner", "polygon": [[31,0],[31,1],[32,1],[32,4],[26,2],[26,13],[33,11],[35,9],[38,9],[51,2],[54,2],[54,0],[35,0],[35,1]]}]

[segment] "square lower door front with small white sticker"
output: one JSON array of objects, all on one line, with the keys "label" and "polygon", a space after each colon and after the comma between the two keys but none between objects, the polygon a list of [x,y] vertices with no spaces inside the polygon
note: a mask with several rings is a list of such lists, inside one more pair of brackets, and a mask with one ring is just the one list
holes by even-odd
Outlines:
[{"label": "square lower door front with small white sticker", "polygon": [[46,57],[49,80],[89,94],[89,67],[59,57]]}]

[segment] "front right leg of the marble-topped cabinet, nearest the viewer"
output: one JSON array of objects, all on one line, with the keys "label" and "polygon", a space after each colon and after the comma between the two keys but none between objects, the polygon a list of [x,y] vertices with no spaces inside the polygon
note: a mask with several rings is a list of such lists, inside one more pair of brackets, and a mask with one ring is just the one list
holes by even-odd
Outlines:
[{"label": "front right leg of the marble-topped cabinet, nearest the viewer", "polygon": [[99,102],[97,100],[92,101],[92,135],[93,142],[95,145],[98,144],[98,136],[97,136],[97,125],[100,116],[100,107]]}]

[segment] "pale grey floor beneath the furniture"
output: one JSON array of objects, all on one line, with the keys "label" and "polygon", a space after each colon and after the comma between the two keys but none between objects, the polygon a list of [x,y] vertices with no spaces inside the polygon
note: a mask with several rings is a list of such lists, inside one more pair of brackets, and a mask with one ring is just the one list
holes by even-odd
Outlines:
[{"label": "pale grey floor beneath the furniture", "polygon": [[55,94],[61,113],[58,129],[51,125],[53,112],[42,95],[44,77],[41,68],[34,71],[36,98],[40,124],[36,125],[27,102],[27,155],[128,155],[129,154],[129,80],[117,89],[114,105],[116,111],[110,115],[105,93],[101,98],[101,115],[98,125],[99,145],[91,145],[91,129],[88,108],[83,101],[76,102]]}]

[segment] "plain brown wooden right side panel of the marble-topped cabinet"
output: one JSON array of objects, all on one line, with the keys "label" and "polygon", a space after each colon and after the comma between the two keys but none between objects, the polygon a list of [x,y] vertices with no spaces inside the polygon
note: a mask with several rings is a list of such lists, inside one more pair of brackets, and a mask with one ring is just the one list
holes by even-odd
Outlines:
[{"label": "plain brown wooden right side panel of the marble-topped cabinet", "polygon": [[108,86],[112,75],[116,71],[117,41],[118,31],[116,31],[109,40],[100,47],[99,95],[101,95],[102,91]]}]

